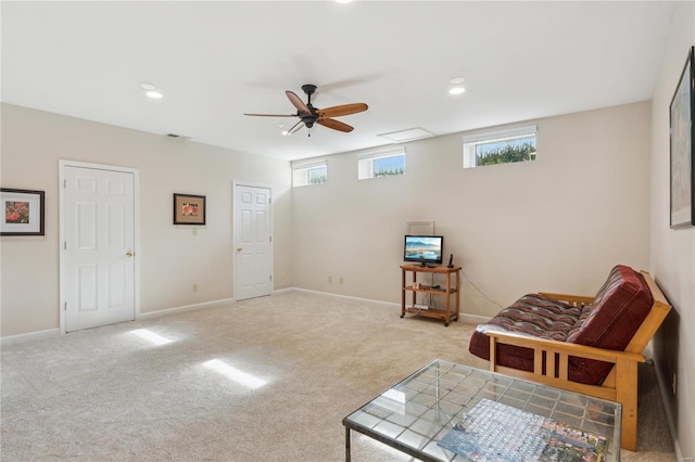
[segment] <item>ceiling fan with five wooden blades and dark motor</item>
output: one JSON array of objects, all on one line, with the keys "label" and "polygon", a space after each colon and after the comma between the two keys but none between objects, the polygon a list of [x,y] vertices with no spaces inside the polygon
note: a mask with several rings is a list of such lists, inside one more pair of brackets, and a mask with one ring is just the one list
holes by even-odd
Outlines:
[{"label": "ceiling fan with five wooden blades and dark motor", "polygon": [[[332,128],[333,130],[350,132],[354,128],[348,124],[343,124],[342,121],[336,120],[332,117],[339,117],[350,114],[356,114],[364,111],[367,111],[368,106],[365,103],[352,103],[352,104],[342,104],[340,106],[326,107],[325,110],[319,110],[312,105],[312,94],[316,91],[316,86],[306,84],[302,86],[302,90],[304,93],[308,95],[308,100],[304,103],[300,97],[298,97],[294,92],[287,90],[285,94],[290,100],[290,103],[294,107],[296,107],[296,114],[244,114],[248,116],[258,116],[258,117],[299,117],[300,121],[294,124],[292,128],[287,131],[287,134],[292,134],[296,132],[302,127],[306,126],[306,128],[314,127],[314,124],[323,125],[324,127]],[[309,131],[308,136],[312,133]]]}]

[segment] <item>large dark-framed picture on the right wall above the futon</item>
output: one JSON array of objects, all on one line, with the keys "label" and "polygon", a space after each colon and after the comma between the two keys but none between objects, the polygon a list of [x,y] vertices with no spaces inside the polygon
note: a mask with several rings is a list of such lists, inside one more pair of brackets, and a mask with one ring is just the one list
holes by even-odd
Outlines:
[{"label": "large dark-framed picture on the right wall above the futon", "polygon": [[695,112],[695,70],[691,47],[670,106],[671,208],[673,229],[695,226],[695,165],[693,164],[693,113]]}]

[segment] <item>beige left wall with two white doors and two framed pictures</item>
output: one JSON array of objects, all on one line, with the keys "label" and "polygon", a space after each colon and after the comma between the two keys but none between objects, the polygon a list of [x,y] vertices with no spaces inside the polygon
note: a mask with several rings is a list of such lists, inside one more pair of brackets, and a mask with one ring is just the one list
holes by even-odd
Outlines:
[{"label": "beige left wall with two white doors and two framed pictures", "polygon": [[[47,204],[45,236],[2,238],[2,336],[59,328],[59,159],[139,169],[142,313],[233,297],[233,181],[274,188],[274,271],[291,274],[287,162],[8,104],[1,147],[2,187]],[[172,224],[174,192],[207,196],[198,235]]]}]

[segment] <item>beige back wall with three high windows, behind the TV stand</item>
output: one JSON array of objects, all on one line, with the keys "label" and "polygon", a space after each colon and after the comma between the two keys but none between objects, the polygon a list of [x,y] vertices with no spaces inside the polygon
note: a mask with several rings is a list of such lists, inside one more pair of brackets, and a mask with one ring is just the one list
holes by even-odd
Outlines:
[{"label": "beige back wall with three high windows, behind the TV stand", "polygon": [[292,194],[295,285],[400,303],[405,223],[422,219],[475,284],[467,315],[539,290],[592,295],[618,262],[647,269],[649,103],[534,123],[532,163],[464,170],[462,133],[408,143],[402,177],[358,181],[358,153],[328,157],[328,183]]}]

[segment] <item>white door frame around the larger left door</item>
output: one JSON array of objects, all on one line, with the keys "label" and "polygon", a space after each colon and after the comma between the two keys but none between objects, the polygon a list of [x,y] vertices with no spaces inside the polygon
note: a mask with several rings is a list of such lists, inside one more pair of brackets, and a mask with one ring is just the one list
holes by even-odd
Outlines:
[{"label": "white door frame around the larger left door", "polygon": [[134,278],[135,278],[135,319],[140,316],[140,170],[130,167],[118,167],[114,165],[91,164],[76,161],[63,161],[58,162],[58,189],[59,189],[59,260],[60,260],[60,284],[59,284],[59,312],[60,312],[60,326],[61,334],[65,333],[65,303],[66,303],[66,288],[65,288],[65,258],[64,258],[64,242],[65,242],[65,168],[66,167],[79,167],[79,168],[94,168],[106,171],[121,171],[126,174],[132,174],[132,188],[134,188]]}]

